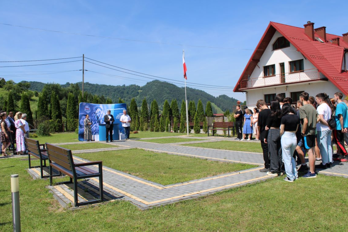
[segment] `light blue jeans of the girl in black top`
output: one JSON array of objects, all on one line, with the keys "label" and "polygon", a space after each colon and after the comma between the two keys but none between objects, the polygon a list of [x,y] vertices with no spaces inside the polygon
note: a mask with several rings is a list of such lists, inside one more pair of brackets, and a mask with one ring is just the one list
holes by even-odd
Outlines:
[{"label": "light blue jeans of the girl in black top", "polygon": [[296,162],[293,157],[297,145],[296,134],[293,132],[284,131],[282,138],[280,138],[280,143],[282,144],[282,156],[286,176],[287,178],[294,180],[295,178],[299,177],[296,170]]}]

